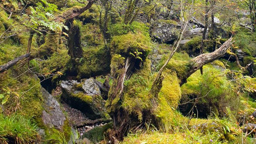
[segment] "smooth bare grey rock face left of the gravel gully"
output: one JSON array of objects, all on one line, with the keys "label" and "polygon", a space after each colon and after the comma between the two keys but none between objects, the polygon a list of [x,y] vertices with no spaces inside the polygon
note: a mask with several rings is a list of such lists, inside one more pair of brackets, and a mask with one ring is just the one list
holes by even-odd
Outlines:
[{"label": "smooth bare grey rock face left of the gravel gully", "polygon": [[64,125],[66,117],[60,108],[60,104],[50,93],[48,93],[42,87],[41,92],[44,101],[43,108],[45,109],[42,112],[42,119],[44,124],[51,128],[55,127],[59,130],[62,130],[62,126]]}]

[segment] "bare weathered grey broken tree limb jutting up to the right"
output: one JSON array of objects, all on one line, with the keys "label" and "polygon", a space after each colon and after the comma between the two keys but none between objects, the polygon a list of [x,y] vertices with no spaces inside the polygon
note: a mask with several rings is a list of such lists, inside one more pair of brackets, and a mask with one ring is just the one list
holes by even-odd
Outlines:
[{"label": "bare weathered grey broken tree limb jutting up to the right", "polygon": [[187,75],[185,78],[181,79],[181,84],[184,84],[187,81],[187,78],[196,72],[203,65],[208,64],[210,62],[215,61],[216,59],[222,57],[232,44],[232,38],[228,39],[220,48],[211,53],[201,54],[189,61],[191,64],[190,69],[187,71]]}]

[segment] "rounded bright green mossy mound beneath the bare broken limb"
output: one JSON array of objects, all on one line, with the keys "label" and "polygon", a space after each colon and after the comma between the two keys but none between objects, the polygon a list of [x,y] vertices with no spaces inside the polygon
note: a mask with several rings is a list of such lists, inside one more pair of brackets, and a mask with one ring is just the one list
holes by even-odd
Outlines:
[{"label": "rounded bright green mossy mound beneath the bare broken limb", "polygon": [[[203,66],[203,75],[198,70],[187,79],[187,83],[182,85],[181,103],[202,97],[196,104],[198,111],[193,111],[195,114],[207,118],[207,115],[213,111],[219,116],[224,116],[225,106],[229,105],[229,99],[235,95],[231,88],[232,83],[228,81],[225,72],[207,64]],[[233,101],[235,100],[233,98]],[[186,115],[191,107],[192,104],[182,104],[180,110]]]}]

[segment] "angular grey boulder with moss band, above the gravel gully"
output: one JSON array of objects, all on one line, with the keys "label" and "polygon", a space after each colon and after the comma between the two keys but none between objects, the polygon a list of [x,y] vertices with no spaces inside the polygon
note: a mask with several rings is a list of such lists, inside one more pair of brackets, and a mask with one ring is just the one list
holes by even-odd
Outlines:
[{"label": "angular grey boulder with moss band, above the gravel gully", "polygon": [[105,100],[93,78],[61,82],[62,98],[72,107],[82,111],[90,119],[107,118]]}]

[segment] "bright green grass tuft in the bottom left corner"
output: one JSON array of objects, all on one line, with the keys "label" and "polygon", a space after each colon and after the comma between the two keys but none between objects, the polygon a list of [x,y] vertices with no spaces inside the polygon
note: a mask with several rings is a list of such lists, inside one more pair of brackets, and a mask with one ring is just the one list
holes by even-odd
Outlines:
[{"label": "bright green grass tuft in the bottom left corner", "polygon": [[0,114],[0,143],[32,144],[39,138],[37,125],[21,115]]}]

